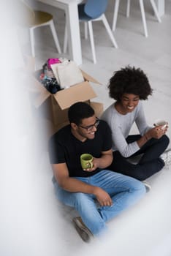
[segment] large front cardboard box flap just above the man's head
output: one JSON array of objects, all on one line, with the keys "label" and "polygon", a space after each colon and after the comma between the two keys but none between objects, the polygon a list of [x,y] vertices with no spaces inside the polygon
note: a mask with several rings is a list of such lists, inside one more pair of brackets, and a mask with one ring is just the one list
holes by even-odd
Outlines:
[{"label": "large front cardboard box flap just above the man's head", "polygon": [[88,82],[83,82],[58,91],[58,93],[53,94],[53,97],[58,102],[61,110],[64,110],[75,102],[85,102],[88,99],[92,99],[96,97],[96,94]]}]

